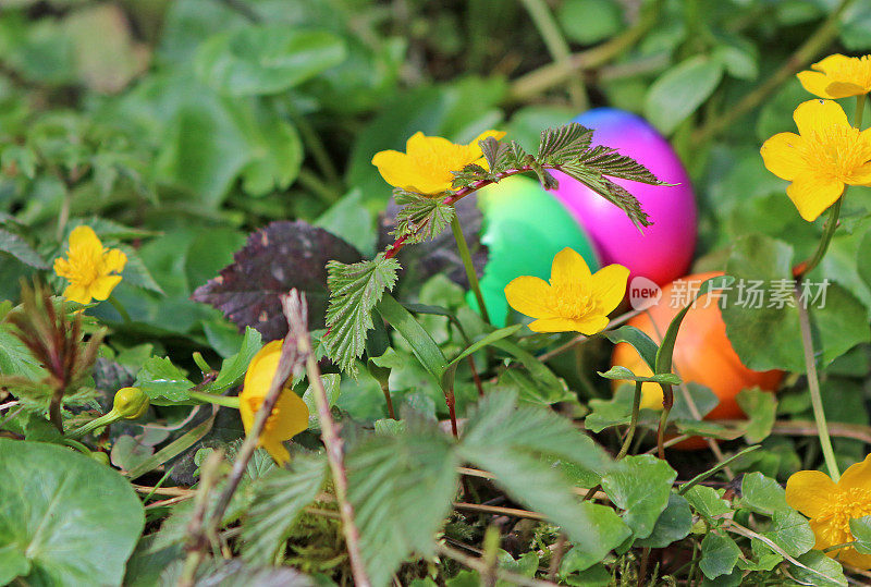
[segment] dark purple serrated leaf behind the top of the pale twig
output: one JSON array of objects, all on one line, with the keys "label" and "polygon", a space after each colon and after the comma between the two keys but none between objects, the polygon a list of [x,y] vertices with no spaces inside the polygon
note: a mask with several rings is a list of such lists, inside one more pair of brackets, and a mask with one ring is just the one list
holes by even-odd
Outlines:
[{"label": "dark purple serrated leaf behind the top of the pale twig", "polygon": [[272,222],[252,233],[219,277],[197,288],[192,299],[214,306],[240,328],[256,328],[263,340],[287,333],[279,295],[306,294],[309,328],[322,328],[327,311],[327,262],[355,262],[360,254],[342,239],[302,220]]}]

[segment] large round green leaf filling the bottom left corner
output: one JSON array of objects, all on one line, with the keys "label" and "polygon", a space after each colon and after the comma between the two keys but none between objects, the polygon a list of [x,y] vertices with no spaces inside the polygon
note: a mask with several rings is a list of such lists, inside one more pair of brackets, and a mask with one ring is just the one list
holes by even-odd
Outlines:
[{"label": "large round green leaf filling the bottom left corner", "polygon": [[0,438],[0,579],[121,585],[145,527],[123,477],[66,448]]}]

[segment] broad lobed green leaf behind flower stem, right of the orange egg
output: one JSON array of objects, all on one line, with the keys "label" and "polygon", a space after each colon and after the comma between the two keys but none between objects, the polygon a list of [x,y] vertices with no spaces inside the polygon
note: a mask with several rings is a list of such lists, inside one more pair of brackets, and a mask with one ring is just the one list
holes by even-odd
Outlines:
[{"label": "broad lobed green leaf behind flower stem, right of the orange egg", "polygon": [[[768,236],[750,235],[734,244],[726,272],[735,276],[738,284],[761,281],[764,289],[775,282],[792,282],[793,261],[793,247],[788,244]],[[811,278],[806,283],[813,281]],[[817,283],[821,282],[817,280]],[[811,294],[815,291],[813,289]],[[762,307],[750,307],[751,304],[739,303],[738,297],[737,292],[726,296],[723,321],[741,363],[759,371],[785,369],[803,372],[805,355],[797,308],[769,307],[769,298],[763,301]],[[749,299],[748,294],[745,297]],[[823,368],[857,344],[871,340],[871,328],[862,304],[837,283],[830,283],[825,289],[824,307],[819,307],[819,301],[817,304],[808,301],[818,368]]]}]

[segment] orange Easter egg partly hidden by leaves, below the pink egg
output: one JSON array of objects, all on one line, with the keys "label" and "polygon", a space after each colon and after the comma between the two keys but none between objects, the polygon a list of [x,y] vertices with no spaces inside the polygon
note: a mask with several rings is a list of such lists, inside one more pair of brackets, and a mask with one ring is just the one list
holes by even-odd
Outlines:
[{"label": "orange Easter egg partly hidden by leaves, below the pink egg", "polygon": [[[662,289],[662,296],[655,305],[627,323],[660,343],[672,319],[691,299],[686,292],[698,291],[704,280],[721,274],[698,273],[670,283]],[[622,365],[636,375],[651,374],[638,352],[627,343],[619,343],[614,347],[611,364]],[[686,382],[706,386],[720,399],[720,404],[706,419],[744,418],[745,414],[736,400],[738,392],[756,387],[764,391],[775,391],[783,379],[782,371],[760,372],[744,366],[726,338],[726,325],[720,313],[719,301],[711,296],[701,297],[687,311],[677,332],[673,370]],[[641,407],[662,408],[662,389],[659,384],[643,383],[641,393]],[[683,448],[694,447],[684,444]]]}]

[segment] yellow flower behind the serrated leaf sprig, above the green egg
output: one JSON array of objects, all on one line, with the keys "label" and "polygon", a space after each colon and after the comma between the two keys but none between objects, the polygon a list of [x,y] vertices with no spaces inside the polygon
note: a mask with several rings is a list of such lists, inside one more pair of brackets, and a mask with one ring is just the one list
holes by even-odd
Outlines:
[{"label": "yellow flower behind the serrated leaf sprig, above the green egg", "polygon": [[418,132],[405,144],[407,152],[382,150],[372,157],[372,164],[394,187],[426,195],[441,194],[451,189],[452,171],[459,171],[469,163],[488,169],[478,142],[489,136],[500,139],[505,133],[486,131],[468,145],[455,145],[446,138]]}]

